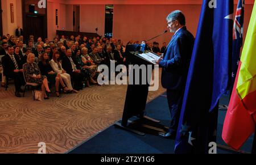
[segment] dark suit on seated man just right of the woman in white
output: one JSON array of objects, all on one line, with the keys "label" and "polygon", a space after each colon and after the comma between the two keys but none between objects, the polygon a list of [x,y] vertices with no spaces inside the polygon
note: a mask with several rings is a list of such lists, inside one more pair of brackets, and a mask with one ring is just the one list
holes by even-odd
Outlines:
[{"label": "dark suit on seated man just right of the woman in white", "polygon": [[[72,57],[70,57],[70,58],[71,59],[69,59],[69,57],[67,57],[67,56],[63,57],[61,65],[62,65],[63,69],[65,71],[67,71],[67,73],[71,76],[71,78],[75,82],[75,84],[74,84],[75,90],[80,90],[82,88],[82,81],[85,78],[85,75],[82,72],[81,73],[73,72],[74,69],[73,69],[72,63],[71,63],[73,61],[73,59],[72,59]],[[73,61],[73,63],[75,64],[75,61]],[[75,70],[76,69],[77,68],[75,68]]]}]

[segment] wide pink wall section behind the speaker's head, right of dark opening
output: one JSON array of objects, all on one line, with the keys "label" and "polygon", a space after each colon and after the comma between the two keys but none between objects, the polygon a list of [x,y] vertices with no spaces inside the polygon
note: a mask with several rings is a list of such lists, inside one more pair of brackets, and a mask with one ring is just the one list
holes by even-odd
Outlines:
[{"label": "wide pink wall section behind the speaker's head, right of dark opening", "polygon": [[[167,29],[166,16],[172,10],[181,10],[187,19],[187,28],[196,35],[200,5],[114,5],[113,37],[129,40],[148,40]],[[152,41],[169,42],[170,32]],[[151,42],[152,42],[151,41]]]}]

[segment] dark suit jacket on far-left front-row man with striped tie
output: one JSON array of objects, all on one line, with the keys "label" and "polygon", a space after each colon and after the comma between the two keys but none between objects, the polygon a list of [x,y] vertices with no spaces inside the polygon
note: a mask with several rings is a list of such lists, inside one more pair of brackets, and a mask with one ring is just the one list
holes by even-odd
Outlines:
[{"label": "dark suit jacket on far-left front-row man with striped tie", "polygon": [[[18,66],[19,65],[19,59],[17,56],[14,56]],[[9,54],[6,54],[5,56],[2,57],[2,65],[3,65],[3,74],[4,75],[11,75],[14,73],[15,68],[15,64],[13,62],[13,60],[11,60],[11,57],[9,56]],[[22,69],[22,68],[19,68]]]}]

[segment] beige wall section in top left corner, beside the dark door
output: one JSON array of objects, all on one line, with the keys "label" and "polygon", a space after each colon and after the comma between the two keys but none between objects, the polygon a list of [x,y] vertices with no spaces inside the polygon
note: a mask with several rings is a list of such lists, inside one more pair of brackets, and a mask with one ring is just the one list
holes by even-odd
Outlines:
[{"label": "beige wall section in top left corner, beside the dark door", "polygon": [[[10,4],[14,5],[14,23],[11,23],[11,9]],[[3,21],[3,35],[15,35],[15,29],[19,25],[22,27],[22,1],[21,0],[5,0],[2,1],[2,21]]]}]

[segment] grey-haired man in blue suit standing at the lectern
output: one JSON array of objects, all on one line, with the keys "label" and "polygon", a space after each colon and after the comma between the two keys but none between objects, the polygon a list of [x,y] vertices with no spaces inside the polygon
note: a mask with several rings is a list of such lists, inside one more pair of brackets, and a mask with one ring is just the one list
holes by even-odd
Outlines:
[{"label": "grey-haired man in blue suit standing at the lectern", "polygon": [[172,11],[166,19],[168,29],[170,29],[171,33],[174,33],[174,36],[164,52],[163,59],[160,58],[158,64],[162,67],[162,86],[167,89],[171,125],[167,133],[159,133],[159,136],[174,139],[179,125],[185,84],[195,39],[185,27],[185,16],[181,11]]}]

